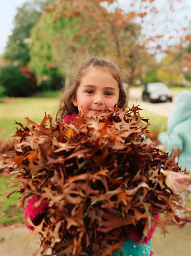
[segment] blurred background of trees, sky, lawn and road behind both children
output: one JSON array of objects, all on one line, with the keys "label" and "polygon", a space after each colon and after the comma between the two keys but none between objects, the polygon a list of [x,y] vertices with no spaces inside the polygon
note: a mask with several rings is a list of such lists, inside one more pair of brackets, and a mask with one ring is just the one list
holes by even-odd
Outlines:
[{"label": "blurred background of trees, sky, lawn and road behind both children", "polygon": [[[0,153],[11,149],[17,122],[54,114],[84,56],[114,56],[123,68],[129,105],[141,105],[150,137],[167,131],[180,91],[191,91],[191,0],[7,0],[0,3]],[[1,159],[0,159],[1,162]],[[9,183],[0,169],[0,195]],[[36,239],[23,227],[12,195],[0,206],[0,255],[33,255]],[[189,205],[189,201],[187,202]],[[191,229],[167,222],[154,255],[191,255]]]}]

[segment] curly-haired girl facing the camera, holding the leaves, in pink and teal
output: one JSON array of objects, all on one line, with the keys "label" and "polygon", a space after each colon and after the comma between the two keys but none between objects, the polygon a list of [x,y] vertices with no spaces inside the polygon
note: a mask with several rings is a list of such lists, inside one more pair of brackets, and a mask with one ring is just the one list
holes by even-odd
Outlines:
[{"label": "curly-haired girl facing the camera, holding the leaves, in pink and teal", "polygon": [[[119,107],[127,106],[127,95],[120,69],[108,59],[91,57],[80,65],[79,70],[74,73],[70,81],[70,86],[63,92],[56,119],[74,122],[75,116],[80,111],[88,117],[96,117],[97,114],[114,107],[115,104],[118,104]],[[30,215],[30,219],[35,225],[38,225],[45,215],[48,202],[44,201],[38,207],[34,207],[33,204],[36,201],[38,201],[38,197],[28,200],[24,214],[25,218]],[[111,227],[115,226],[113,222],[109,221],[111,215],[112,212],[107,214],[102,212],[102,217],[105,221],[102,222],[102,227],[99,228],[99,231],[109,232]],[[158,216],[156,216],[157,218]],[[116,227],[124,225],[125,222],[121,218],[121,223],[119,224],[118,221]],[[140,234],[142,234],[144,225],[145,220],[143,219],[142,225],[138,230],[132,225],[124,226],[128,241],[124,242],[124,247],[119,248],[119,251],[113,255],[152,256],[153,251],[150,239],[156,225],[155,223],[152,224],[152,228],[149,230],[144,242],[140,243]],[[30,226],[28,228],[32,229]]]}]

